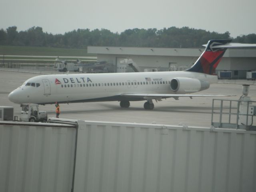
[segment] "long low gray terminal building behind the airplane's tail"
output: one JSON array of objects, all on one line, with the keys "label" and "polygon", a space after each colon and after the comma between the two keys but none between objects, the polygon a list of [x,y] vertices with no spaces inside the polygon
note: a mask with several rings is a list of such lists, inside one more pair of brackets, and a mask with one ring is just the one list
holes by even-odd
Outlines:
[{"label": "long low gray terminal building behind the airplane's tail", "polygon": [[[88,53],[97,54],[97,61],[106,61],[112,72],[133,72],[126,65],[134,62],[140,71],[178,71],[189,68],[204,51],[202,48],[139,48],[88,46]],[[230,72],[231,78],[246,78],[246,72],[256,71],[256,49],[227,49],[219,72]]]}]

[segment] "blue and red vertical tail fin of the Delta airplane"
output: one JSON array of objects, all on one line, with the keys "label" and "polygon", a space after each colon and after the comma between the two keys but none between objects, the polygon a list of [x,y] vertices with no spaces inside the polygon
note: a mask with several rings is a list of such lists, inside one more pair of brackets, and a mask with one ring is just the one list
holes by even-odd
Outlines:
[{"label": "blue and red vertical tail fin of the Delta airplane", "polygon": [[[222,56],[224,55],[227,47],[224,46],[231,42],[231,39],[226,40],[210,40],[202,55],[194,63],[194,65],[185,70],[190,72],[199,72],[212,75],[215,72]],[[218,48],[217,48],[218,47]]]}]

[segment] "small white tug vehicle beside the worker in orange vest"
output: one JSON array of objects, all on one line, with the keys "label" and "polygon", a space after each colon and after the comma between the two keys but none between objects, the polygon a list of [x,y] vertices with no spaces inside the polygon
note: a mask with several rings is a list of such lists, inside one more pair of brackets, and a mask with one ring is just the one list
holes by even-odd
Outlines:
[{"label": "small white tug vehicle beside the worker in orange vest", "polygon": [[38,104],[21,104],[20,121],[47,122],[47,112],[39,111]]}]

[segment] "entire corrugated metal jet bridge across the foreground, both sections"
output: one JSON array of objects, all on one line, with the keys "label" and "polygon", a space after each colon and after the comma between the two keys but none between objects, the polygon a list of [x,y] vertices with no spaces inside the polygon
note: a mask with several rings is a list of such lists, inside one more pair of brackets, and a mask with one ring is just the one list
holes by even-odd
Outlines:
[{"label": "entire corrugated metal jet bridge across the foreground, both sections", "polygon": [[0,123],[0,192],[70,192],[74,158],[74,192],[256,192],[256,132],[56,125]]}]

